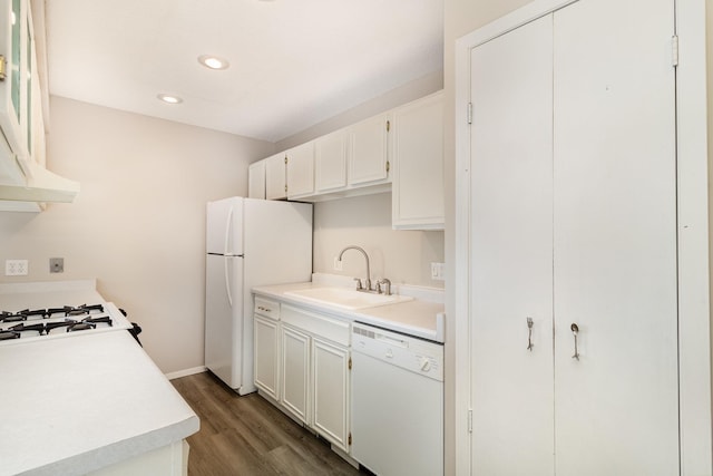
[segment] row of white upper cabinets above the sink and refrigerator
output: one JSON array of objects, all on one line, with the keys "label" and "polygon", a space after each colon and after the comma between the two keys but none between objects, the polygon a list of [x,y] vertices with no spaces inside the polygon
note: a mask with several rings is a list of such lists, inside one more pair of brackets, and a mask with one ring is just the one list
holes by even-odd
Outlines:
[{"label": "row of white upper cabinets above the sink and refrigerator", "polygon": [[394,229],[443,229],[442,93],[265,161],[267,200],[321,202],[393,192]]}]

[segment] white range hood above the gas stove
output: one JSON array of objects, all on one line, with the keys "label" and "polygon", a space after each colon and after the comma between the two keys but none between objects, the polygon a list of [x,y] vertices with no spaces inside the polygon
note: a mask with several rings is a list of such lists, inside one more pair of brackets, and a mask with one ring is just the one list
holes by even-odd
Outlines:
[{"label": "white range hood above the gas stove", "polygon": [[23,179],[0,183],[0,201],[69,203],[79,193],[78,182],[60,177],[32,161],[23,161],[22,171]]}]

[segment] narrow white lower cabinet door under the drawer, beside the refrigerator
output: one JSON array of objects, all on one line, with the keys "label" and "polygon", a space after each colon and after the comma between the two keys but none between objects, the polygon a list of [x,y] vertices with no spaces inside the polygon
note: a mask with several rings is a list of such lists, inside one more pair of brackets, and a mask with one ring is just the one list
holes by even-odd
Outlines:
[{"label": "narrow white lower cabinet door under the drawer, beside the refrigerator", "polygon": [[279,323],[255,314],[254,321],[255,387],[277,401],[280,394],[280,333]]}]

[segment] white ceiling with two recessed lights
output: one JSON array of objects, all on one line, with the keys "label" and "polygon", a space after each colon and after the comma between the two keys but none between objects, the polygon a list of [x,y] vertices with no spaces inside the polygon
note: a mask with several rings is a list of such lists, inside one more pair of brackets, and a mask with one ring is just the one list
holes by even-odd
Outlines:
[{"label": "white ceiling with two recessed lights", "polygon": [[[46,0],[49,90],[277,142],[442,69],[442,0]],[[227,70],[197,61],[216,55]],[[156,96],[180,96],[179,105]]]}]

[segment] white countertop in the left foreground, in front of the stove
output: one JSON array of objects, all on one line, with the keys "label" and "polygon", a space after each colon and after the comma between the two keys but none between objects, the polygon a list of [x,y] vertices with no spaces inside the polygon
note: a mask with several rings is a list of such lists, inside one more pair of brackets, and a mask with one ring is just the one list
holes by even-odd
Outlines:
[{"label": "white countertop in the left foreground, in front of the stove", "polygon": [[86,474],[198,430],[128,332],[0,347],[0,475]]}]

